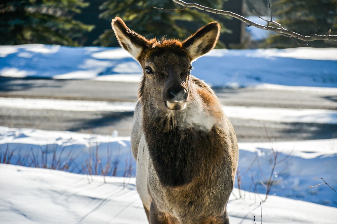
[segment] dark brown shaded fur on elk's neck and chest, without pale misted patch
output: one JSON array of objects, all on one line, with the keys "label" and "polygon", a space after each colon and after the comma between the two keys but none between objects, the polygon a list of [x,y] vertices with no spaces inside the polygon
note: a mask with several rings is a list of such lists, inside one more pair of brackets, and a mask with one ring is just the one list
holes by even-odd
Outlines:
[{"label": "dark brown shaded fur on elk's neck and chest, without pale misted patch", "polygon": [[192,126],[182,128],[179,122],[184,122],[184,116],[178,115],[181,112],[167,116],[146,110],[144,108],[143,129],[159,180],[166,186],[189,183],[202,169],[203,153],[212,148],[205,145],[212,142],[212,131]]}]

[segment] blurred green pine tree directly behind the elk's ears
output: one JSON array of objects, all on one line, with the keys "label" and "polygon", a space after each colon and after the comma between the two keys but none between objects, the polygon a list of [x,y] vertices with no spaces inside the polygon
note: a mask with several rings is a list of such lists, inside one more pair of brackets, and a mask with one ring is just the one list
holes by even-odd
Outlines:
[{"label": "blurred green pine tree directly behind the elk's ears", "polygon": [[[194,1],[190,1],[194,2]],[[223,0],[200,0],[197,3],[208,7],[221,8]],[[100,17],[111,21],[120,16],[128,27],[147,38],[161,38],[166,34],[168,38],[184,39],[194,33],[196,29],[214,21],[212,14],[186,8],[179,9],[179,5],[171,0],[108,0],[101,5],[105,10]],[[223,27],[223,26],[222,26]],[[222,32],[227,31],[224,27]],[[106,30],[96,43],[102,46],[117,46],[113,30]]]}]

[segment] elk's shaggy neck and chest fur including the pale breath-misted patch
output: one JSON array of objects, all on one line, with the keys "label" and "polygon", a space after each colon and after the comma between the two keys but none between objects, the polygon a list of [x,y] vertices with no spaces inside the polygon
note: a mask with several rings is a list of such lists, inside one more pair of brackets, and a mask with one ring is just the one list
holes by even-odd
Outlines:
[{"label": "elk's shaggy neck and chest fur including the pale breath-misted patch", "polygon": [[201,97],[197,93],[191,95],[197,97],[190,99],[187,108],[181,111],[158,109],[149,98],[142,99],[143,130],[150,143],[150,156],[160,182],[166,186],[192,181],[216,148],[215,119],[200,106]]}]

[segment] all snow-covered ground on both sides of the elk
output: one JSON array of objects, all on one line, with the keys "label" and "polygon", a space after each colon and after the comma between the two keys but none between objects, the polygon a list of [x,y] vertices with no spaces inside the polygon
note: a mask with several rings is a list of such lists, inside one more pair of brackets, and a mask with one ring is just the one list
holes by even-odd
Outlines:
[{"label": "all snow-covered ground on both sides of the elk", "polygon": [[[213,50],[192,74],[213,86],[337,94],[337,49]],[[120,48],[0,46],[0,76],[139,82],[140,66]],[[134,103],[0,98],[2,107],[133,111]],[[228,117],[337,123],[337,111],[224,106]],[[337,139],[239,143],[231,223],[336,223]],[[273,153],[274,151],[274,153]],[[277,154],[276,166],[273,163]],[[1,223],[147,223],[135,190],[130,138],[0,127]],[[50,169],[31,167],[56,168]],[[109,166],[108,166],[109,165]],[[72,173],[69,173],[72,172]],[[108,174],[107,177],[91,174]],[[116,175],[117,177],[111,177]],[[239,185],[238,185],[239,184]],[[240,187],[240,189],[238,188]],[[241,195],[241,197],[240,197]],[[32,206],[33,205],[33,206]]]}]

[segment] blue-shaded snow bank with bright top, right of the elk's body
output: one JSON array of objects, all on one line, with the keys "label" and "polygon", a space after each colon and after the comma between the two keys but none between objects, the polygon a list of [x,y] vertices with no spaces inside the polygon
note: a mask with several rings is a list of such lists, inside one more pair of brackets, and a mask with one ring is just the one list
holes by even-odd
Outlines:
[{"label": "blue-shaded snow bank with bright top, right of the elk's body", "polygon": [[320,177],[337,186],[337,139],[239,143],[239,149],[241,189],[264,193],[271,178],[270,194],[337,207],[329,186],[310,188],[324,183],[314,179]]}]

